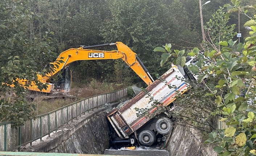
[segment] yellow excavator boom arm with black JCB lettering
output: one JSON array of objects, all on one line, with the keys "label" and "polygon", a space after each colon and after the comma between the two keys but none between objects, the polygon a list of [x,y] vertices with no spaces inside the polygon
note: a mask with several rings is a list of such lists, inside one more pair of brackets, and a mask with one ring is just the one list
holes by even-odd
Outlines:
[{"label": "yellow excavator boom arm with black JCB lettering", "polygon": [[[116,45],[117,50],[112,51],[103,51],[103,50],[90,50],[85,48],[90,47],[99,47],[106,45]],[[71,48],[66,51],[63,51],[54,63],[54,69],[46,76],[51,77],[58,73],[61,69],[64,69],[70,63],[78,60],[102,60],[102,59],[123,59],[124,62],[135,71],[137,75],[147,84],[150,85],[153,83],[153,79],[148,73],[148,70],[145,68],[143,63],[137,57],[137,54],[133,52],[128,46],[124,45],[121,42],[96,45],[96,46],[82,46],[79,48]]]}]

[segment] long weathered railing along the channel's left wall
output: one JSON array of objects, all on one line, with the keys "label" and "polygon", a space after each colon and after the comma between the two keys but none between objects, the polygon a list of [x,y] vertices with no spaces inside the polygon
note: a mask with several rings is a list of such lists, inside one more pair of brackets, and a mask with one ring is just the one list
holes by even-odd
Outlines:
[{"label": "long weathered railing along the channel's left wall", "polygon": [[35,119],[25,121],[23,126],[12,127],[11,122],[0,123],[0,151],[11,151],[42,137],[49,135],[62,125],[74,118],[94,110],[106,103],[119,100],[127,96],[127,88],[114,92],[88,97],[72,104],[63,106],[46,114],[38,115]]}]

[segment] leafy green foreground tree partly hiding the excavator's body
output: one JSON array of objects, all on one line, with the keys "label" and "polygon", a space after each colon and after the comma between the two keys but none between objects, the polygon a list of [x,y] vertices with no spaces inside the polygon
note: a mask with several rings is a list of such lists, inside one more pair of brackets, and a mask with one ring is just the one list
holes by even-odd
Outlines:
[{"label": "leafy green foreground tree partly hiding the excavator's body", "polygon": [[24,98],[29,84],[22,86],[17,80],[27,79],[35,81],[39,88],[45,87],[36,74],[48,72],[50,68],[46,65],[55,57],[49,47],[52,32],[48,30],[42,42],[30,38],[27,24],[32,16],[28,1],[0,2],[0,122],[21,125],[32,116],[34,106]]}]

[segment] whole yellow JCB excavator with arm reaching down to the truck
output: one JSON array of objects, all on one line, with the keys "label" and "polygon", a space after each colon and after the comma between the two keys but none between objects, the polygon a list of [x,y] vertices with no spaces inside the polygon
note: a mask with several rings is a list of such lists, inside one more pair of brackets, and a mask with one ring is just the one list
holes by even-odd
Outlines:
[{"label": "whole yellow JCB excavator with arm reaching down to the truck", "polygon": [[[90,50],[89,48],[102,47],[102,46],[113,46],[116,45],[117,50],[103,51],[103,50]],[[57,92],[69,92],[71,87],[71,71],[68,65],[78,60],[102,60],[102,59],[123,59],[124,62],[135,71],[137,75],[147,84],[150,85],[154,82],[150,76],[148,70],[145,68],[137,54],[133,52],[128,46],[122,42],[107,43],[102,45],[94,46],[79,46],[79,48],[71,48],[63,51],[55,62],[51,63],[54,65],[54,69],[46,76],[37,75],[37,79],[47,85],[47,89],[38,89],[34,81],[18,80],[21,85],[29,85],[27,87],[31,91],[53,93]],[[56,75],[59,71],[62,72],[62,78],[55,83],[50,83],[50,78]]]}]

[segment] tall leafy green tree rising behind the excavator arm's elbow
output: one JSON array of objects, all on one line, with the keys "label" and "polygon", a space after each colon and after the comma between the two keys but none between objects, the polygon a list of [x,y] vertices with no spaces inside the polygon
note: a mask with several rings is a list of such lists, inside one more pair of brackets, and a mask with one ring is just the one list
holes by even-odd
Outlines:
[{"label": "tall leafy green tree rising behind the excavator arm's elbow", "polygon": [[167,68],[156,67],[159,55],[153,53],[152,48],[167,38],[163,29],[167,17],[163,14],[168,12],[166,6],[162,1],[153,0],[111,0],[108,3],[110,16],[100,29],[103,41],[123,42],[137,53],[152,76],[164,73]]}]

